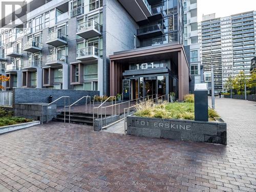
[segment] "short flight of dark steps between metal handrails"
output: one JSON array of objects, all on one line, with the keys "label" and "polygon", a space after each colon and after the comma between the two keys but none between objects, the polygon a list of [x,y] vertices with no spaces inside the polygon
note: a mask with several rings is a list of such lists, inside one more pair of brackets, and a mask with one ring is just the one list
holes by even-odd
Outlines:
[{"label": "short flight of dark steps between metal handrails", "polygon": [[[57,114],[53,121],[64,122],[64,112]],[[66,112],[66,123],[69,122],[69,113]],[[88,113],[70,113],[70,123],[93,125],[93,114]]]}]

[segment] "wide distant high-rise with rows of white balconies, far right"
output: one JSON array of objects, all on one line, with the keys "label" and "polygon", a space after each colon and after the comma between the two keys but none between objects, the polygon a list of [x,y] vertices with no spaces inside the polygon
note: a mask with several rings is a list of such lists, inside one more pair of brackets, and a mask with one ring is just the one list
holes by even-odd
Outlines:
[{"label": "wide distant high-rise with rows of white balconies, far right", "polygon": [[[214,66],[215,90],[225,91],[225,81],[240,71],[250,73],[255,56],[256,12],[246,12],[222,18],[206,15],[200,24],[204,80],[211,81]],[[209,85],[210,86],[210,85]]]}]

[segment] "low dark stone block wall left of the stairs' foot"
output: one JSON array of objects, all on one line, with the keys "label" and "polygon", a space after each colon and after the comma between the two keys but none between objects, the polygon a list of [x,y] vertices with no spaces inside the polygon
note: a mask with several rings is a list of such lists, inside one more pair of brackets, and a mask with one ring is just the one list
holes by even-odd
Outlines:
[{"label": "low dark stone block wall left of the stairs' foot", "polygon": [[43,106],[47,103],[16,103],[15,116],[37,121],[51,121],[57,115],[57,105]]}]

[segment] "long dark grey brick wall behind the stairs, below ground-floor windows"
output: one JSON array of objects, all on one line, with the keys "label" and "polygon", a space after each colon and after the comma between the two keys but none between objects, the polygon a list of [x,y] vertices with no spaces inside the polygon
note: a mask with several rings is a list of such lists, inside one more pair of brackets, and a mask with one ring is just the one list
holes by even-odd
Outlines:
[{"label": "long dark grey brick wall behind the stairs, below ground-floor windows", "polygon": [[[13,105],[15,103],[48,103],[50,95],[53,96],[53,101],[61,96],[70,96],[70,103],[73,103],[87,95],[93,99],[94,95],[99,95],[99,91],[15,88],[13,90]],[[64,100],[60,100],[56,104],[57,106],[63,106],[63,102]],[[85,99],[82,102],[85,102]],[[66,104],[68,104],[68,101]]]}]

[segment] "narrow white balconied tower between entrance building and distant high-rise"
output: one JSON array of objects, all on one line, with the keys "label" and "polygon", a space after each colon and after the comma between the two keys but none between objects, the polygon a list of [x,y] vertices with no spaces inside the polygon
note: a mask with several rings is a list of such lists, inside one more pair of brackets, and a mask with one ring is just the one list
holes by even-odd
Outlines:
[{"label": "narrow white balconied tower between entrance building and distant high-rise", "polygon": [[195,83],[203,80],[200,61],[200,44],[198,35],[197,0],[185,0],[184,7],[184,46],[190,64],[191,81],[189,92],[194,93]]}]

